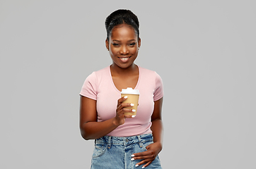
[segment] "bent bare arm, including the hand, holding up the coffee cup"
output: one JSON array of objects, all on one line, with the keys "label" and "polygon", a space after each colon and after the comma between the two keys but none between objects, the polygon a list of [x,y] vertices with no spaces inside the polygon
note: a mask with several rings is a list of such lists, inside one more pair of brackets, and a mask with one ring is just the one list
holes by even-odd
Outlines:
[{"label": "bent bare arm, including the hand, holding up the coffee cup", "polygon": [[96,101],[88,97],[81,96],[80,100],[80,130],[83,139],[98,139],[115,130],[119,125],[124,124],[125,118],[131,115],[124,115],[124,112],[132,109],[124,108],[130,104],[122,104],[125,98],[120,98],[117,102],[117,113],[115,118],[97,122]]}]

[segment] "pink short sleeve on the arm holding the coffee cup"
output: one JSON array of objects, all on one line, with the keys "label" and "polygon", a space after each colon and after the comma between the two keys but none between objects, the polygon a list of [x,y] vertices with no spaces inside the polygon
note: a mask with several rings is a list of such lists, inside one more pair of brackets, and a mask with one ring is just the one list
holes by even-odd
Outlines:
[{"label": "pink short sleeve on the arm holding the coffee cup", "polygon": [[86,96],[90,99],[97,100],[97,77],[95,72],[88,75],[83,82],[83,87],[80,92],[81,96]]}]

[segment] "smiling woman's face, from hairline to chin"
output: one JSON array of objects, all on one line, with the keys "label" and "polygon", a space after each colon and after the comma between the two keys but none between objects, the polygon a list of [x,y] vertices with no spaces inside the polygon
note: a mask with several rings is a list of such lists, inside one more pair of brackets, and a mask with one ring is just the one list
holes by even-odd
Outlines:
[{"label": "smiling woman's face, from hairline to chin", "polygon": [[106,47],[110,51],[112,65],[119,68],[129,68],[138,56],[141,39],[138,39],[134,28],[130,25],[117,25],[112,29],[112,34],[106,40]]}]

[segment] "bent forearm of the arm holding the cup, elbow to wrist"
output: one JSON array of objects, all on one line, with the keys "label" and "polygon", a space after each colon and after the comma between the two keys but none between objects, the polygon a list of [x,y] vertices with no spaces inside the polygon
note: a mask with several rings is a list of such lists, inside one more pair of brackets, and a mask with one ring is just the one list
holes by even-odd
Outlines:
[{"label": "bent forearm of the arm holding the cup, elbow to wrist", "polygon": [[114,118],[103,122],[88,122],[81,125],[81,135],[84,139],[98,139],[115,130],[118,125],[115,124]]}]

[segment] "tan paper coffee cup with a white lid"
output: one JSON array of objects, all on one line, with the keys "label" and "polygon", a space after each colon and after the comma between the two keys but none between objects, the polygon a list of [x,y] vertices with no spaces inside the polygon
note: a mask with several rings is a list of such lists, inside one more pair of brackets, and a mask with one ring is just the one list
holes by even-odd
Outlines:
[{"label": "tan paper coffee cup with a white lid", "polygon": [[138,107],[138,102],[139,102],[139,90],[137,89],[132,89],[132,87],[127,87],[127,89],[122,89],[121,96],[128,96],[123,103],[129,103],[129,104],[134,104],[133,107],[126,107],[126,108],[131,108],[134,109],[135,112],[126,112],[124,113],[125,115],[136,115],[137,113],[137,107]]}]

